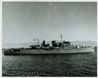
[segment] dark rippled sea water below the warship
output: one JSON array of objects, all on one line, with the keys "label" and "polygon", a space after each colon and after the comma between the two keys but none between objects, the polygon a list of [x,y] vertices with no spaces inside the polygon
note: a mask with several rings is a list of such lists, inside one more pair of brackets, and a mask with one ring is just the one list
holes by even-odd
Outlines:
[{"label": "dark rippled sea water below the warship", "polygon": [[3,76],[97,76],[97,54],[2,56]]}]

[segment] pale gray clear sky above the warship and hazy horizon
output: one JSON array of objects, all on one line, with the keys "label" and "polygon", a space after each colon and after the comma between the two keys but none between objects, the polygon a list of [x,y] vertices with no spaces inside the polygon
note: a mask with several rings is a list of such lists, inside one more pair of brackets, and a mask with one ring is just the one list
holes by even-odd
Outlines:
[{"label": "pale gray clear sky above the warship and hazy horizon", "polygon": [[96,2],[3,2],[2,42],[97,41]]}]

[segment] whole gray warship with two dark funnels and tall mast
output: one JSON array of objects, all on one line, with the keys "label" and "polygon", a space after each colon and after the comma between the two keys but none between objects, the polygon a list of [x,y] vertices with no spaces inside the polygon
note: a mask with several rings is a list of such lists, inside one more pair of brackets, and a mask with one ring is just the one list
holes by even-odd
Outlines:
[{"label": "whole gray warship with two dark funnels and tall mast", "polygon": [[[38,39],[39,42],[39,39]],[[47,43],[45,40],[41,44],[30,45],[29,48],[11,48],[4,51],[4,55],[35,55],[35,54],[68,54],[68,53],[91,53],[94,52],[92,46],[74,46],[70,41],[56,40]]]}]

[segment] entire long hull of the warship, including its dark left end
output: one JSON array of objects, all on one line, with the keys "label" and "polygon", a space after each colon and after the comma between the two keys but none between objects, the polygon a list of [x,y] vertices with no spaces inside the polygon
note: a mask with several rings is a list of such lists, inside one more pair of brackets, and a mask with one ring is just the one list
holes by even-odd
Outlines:
[{"label": "entire long hull of the warship, including its dark left end", "polygon": [[76,53],[91,53],[94,52],[94,48],[70,48],[70,49],[53,49],[53,50],[33,50],[33,49],[21,49],[19,51],[4,52],[4,55],[38,55],[38,54],[76,54]]}]

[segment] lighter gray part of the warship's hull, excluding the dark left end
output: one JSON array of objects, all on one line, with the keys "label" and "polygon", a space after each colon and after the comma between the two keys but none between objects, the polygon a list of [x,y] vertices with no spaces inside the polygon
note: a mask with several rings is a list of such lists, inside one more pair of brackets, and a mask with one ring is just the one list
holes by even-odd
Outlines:
[{"label": "lighter gray part of the warship's hull, excluding the dark left end", "polygon": [[56,49],[56,50],[32,50],[23,49],[20,50],[21,54],[66,54],[66,53],[90,53],[94,52],[93,48],[73,48],[73,49]]}]

